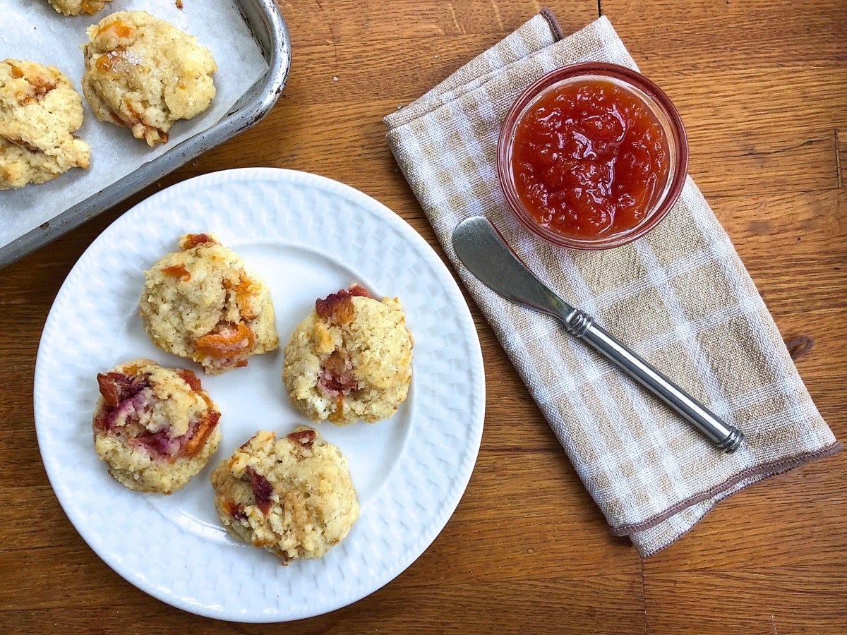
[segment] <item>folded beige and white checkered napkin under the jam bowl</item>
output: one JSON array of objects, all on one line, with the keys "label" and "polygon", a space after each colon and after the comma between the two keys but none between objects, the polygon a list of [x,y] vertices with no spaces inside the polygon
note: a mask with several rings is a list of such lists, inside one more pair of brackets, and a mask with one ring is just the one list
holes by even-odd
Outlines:
[{"label": "folded beige and white checkered napkin under the jam bowl", "polygon": [[[447,256],[612,533],[627,535],[646,557],[729,494],[833,455],[841,444],[690,177],[657,229],[608,251],[548,246],[507,212],[495,148],[508,108],[540,75],[590,60],[636,68],[607,19],[564,37],[544,10],[385,124]],[[741,428],[746,440],[739,450],[717,450],[555,319],[504,300],[475,279],[451,245],[453,228],[475,215],[489,218],[559,295]]]}]

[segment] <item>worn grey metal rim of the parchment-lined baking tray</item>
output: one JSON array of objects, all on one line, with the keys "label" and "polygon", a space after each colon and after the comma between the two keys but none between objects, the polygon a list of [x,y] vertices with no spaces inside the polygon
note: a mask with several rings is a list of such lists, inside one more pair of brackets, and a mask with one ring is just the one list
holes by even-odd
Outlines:
[{"label": "worn grey metal rim of the parchment-lined baking tray", "polygon": [[132,174],[0,247],[0,268],[57,239],[203,152],[247,130],[270,112],[285,88],[291,69],[291,39],[288,27],[274,0],[234,1],[268,63],[267,73],[241,96],[217,124],[182,141]]}]

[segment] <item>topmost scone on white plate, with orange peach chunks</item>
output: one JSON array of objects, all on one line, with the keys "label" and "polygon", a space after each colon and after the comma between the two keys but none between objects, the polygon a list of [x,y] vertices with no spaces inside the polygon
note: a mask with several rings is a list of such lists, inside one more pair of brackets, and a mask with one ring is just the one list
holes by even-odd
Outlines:
[{"label": "topmost scone on white plate, with orange peach chunks", "polygon": [[270,291],[241,257],[208,234],[179,246],[145,272],[139,314],[152,342],[209,374],[279,348]]}]

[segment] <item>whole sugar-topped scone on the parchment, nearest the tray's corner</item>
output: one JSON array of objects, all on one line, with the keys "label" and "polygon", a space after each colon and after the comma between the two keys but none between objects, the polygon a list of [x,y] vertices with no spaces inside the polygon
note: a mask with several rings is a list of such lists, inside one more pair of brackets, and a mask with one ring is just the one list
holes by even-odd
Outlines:
[{"label": "whole sugar-topped scone on the parchment, nearest the tray's corner", "polygon": [[82,92],[101,121],[148,146],[212,102],[217,64],[197,38],[146,11],[119,11],[88,28]]}]

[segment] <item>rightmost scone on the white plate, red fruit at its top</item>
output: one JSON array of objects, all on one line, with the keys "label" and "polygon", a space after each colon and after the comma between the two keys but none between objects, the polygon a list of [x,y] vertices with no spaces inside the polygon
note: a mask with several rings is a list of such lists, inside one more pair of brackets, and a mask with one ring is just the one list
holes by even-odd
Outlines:
[{"label": "rightmost scone on the white plate, red fruit at its top", "polygon": [[289,400],[316,422],[391,417],[408,394],[412,344],[396,298],[375,300],[353,284],[318,299],[285,345]]}]

